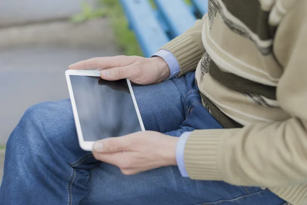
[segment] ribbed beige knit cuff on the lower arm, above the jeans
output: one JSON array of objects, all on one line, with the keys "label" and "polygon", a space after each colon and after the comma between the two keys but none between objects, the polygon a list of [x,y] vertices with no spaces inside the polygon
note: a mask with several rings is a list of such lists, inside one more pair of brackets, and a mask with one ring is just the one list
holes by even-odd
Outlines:
[{"label": "ribbed beige knit cuff on the lower arm, above the jeans", "polygon": [[218,165],[218,149],[223,129],[194,130],[189,136],[185,151],[184,163],[192,179],[222,180]]}]

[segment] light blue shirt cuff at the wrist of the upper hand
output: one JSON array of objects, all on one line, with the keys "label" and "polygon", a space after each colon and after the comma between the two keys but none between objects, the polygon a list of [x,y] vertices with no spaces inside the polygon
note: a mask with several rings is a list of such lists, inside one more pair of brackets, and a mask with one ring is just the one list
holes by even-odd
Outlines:
[{"label": "light blue shirt cuff at the wrist of the upper hand", "polygon": [[168,79],[173,78],[180,73],[179,63],[171,52],[162,49],[158,51],[157,53],[153,54],[151,57],[155,57],[155,56],[159,56],[163,58],[165,62],[167,63],[169,67],[169,71],[170,71],[170,76],[168,77]]}]

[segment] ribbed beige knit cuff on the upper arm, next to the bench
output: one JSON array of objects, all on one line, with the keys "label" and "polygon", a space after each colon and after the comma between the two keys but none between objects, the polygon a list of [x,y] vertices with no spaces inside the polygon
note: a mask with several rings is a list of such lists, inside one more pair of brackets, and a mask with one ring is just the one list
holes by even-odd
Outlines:
[{"label": "ribbed beige knit cuff on the upper arm, next to the bench", "polygon": [[203,45],[199,45],[193,39],[184,35],[166,43],[160,50],[162,49],[171,52],[176,57],[180,66],[179,76],[194,71],[205,53]]}]

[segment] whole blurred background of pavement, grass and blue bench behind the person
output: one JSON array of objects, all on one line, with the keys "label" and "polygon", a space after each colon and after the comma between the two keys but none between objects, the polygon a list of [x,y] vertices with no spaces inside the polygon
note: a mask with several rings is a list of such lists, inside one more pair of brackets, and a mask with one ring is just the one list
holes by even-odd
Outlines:
[{"label": "whole blurred background of pavement, grass and blue bench behind the person", "polygon": [[[143,26],[136,32],[139,41],[129,30],[131,24],[128,25],[121,3],[130,23],[131,19],[136,25],[140,25],[138,20],[142,21]],[[142,56],[143,53],[150,56],[191,27],[207,6],[206,0],[121,0],[121,3],[120,0],[0,1],[0,182],[11,131],[31,105],[69,98],[64,72],[70,64],[100,56]],[[197,10],[192,4],[204,9]],[[166,10],[160,15],[157,7]],[[173,19],[177,22],[167,27],[166,21]]]}]

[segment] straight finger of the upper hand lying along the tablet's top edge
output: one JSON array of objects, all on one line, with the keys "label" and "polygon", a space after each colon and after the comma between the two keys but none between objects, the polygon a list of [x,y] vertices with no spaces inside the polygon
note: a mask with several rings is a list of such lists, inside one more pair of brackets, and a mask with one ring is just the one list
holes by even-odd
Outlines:
[{"label": "straight finger of the upper hand lying along the tablet's top edge", "polygon": [[125,66],[134,62],[128,56],[98,57],[76,62],[69,66],[71,70],[109,69],[111,67]]}]

